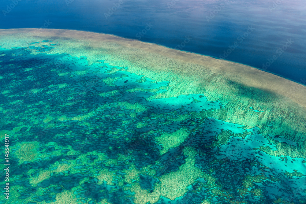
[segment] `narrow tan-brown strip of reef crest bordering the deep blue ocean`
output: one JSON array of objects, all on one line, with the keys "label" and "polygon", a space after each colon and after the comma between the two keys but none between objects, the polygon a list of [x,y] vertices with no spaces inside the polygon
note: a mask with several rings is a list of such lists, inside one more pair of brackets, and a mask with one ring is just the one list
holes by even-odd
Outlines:
[{"label": "narrow tan-brown strip of reef crest bordering the deep blue ocean", "polygon": [[[276,76],[269,72],[225,60],[215,59],[209,56],[203,56],[195,53],[188,53],[181,50],[174,50],[164,46],[152,43],[144,43],[133,39],[125,39],[114,35],[106,35],[101,33],[75,31],[75,30],[59,30],[59,29],[36,29],[36,28],[20,28],[20,29],[1,29],[1,35],[10,35],[16,33],[27,33],[28,36],[42,37],[58,37],[71,39],[85,39],[90,42],[88,46],[99,48],[103,47],[105,42],[115,42],[128,48],[136,48],[143,50],[143,56],[139,58],[148,57],[146,53],[160,54],[165,57],[170,57],[183,64],[191,63],[205,67],[211,72],[226,74],[226,77],[231,80],[241,83],[244,86],[255,87],[271,93],[290,98],[293,102],[302,107],[306,107],[306,87],[287,80],[280,76]],[[135,56],[133,56],[135,58]],[[154,61],[154,59],[147,58],[147,61]],[[153,62],[154,64],[154,62]],[[159,68],[161,68],[159,66]],[[167,67],[167,69],[174,69]],[[165,69],[165,68],[164,68]],[[175,71],[186,73],[188,75],[201,75],[201,69],[188,69],[186,67],[175,67]],[[290,69],[290,68],[288,68]],[[166,71],[166,69],[164,70]],[[206,70],[207,71],[207,70]]]}]

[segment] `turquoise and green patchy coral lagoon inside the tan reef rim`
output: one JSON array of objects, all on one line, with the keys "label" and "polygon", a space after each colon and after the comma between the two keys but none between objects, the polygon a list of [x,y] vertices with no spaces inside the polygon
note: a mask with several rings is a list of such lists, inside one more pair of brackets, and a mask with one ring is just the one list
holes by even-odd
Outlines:
[{"label": "turquoise and green patchy coral lagoon inside the tan reef rim", "polygon": [[69,54],[72,39],[20,39],[0,43],[0,203],[306,202],[305,118],[278,96],[204,70],[210,88],[184,81],[191,72],[136,71],[111,48],[93,62],[94,48]]}]

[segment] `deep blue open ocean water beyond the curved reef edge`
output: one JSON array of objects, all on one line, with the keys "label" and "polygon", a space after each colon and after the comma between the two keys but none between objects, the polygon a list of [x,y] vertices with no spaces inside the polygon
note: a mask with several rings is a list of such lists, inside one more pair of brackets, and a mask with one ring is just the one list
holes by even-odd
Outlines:
[{"label": "deep blue open ocean water beyond the curved reef edge", "polygon": [[306,83],[305,0],[0,0],[0,9],[2,29],[113,34]]}]

